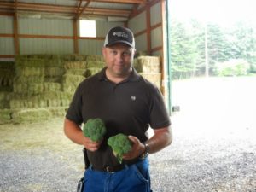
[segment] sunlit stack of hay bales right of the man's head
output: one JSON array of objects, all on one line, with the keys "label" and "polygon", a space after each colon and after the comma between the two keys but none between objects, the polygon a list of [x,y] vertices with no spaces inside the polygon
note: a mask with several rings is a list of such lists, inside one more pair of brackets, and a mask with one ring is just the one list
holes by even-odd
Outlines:
[{"label": "sunlit stack of hay bales right of the man's head", "polygon": [[158,56],[138,56],[133,63],[137,72],[159,89],[161,87],[161,67]]}]

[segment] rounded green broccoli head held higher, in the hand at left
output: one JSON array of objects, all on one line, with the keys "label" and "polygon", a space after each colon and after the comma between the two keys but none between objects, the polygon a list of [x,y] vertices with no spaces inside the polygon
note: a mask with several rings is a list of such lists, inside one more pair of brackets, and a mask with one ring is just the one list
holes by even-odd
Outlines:
[{"label": "rounded green broccoli head held higher, in the hand at left", "polygon": [[102,119],[88,119],[84,124],[83,133],[85,137],[90,137],[94,142],[101,141],[107,129]]}]

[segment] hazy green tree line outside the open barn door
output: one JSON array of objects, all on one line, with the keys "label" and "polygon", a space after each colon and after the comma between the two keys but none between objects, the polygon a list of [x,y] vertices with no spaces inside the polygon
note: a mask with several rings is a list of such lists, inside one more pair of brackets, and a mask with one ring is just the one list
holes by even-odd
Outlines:
[{"label": "hazy green tree line outside the open barn door", "polygon": [[171,19],[172,79],[256,73],[256,27],[243,21],[225,27]]}]

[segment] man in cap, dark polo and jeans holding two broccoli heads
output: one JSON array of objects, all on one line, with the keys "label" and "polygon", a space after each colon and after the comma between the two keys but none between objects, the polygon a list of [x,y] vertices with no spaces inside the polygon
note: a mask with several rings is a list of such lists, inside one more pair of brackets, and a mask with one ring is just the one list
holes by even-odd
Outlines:
[{"label": "man in cap, dark polo and jeans holding two broccoli heads", "polygon": [[[64,131],[74,143],[84,145],[90,167],[84,172],[86,192],[148,192],[148,154],[172,143],[170,118],[160,91],[132,67],[135,54],[130,29],[109,30],[102,55],[106,67],[79,84],[67,110]],[[81,124],[88,119],[104,121],[107,134],[101,142],[84,137]],[[154,136],[147,137],[151,126]],[[108,138],[118,133],[129,136],[131,152],[123,163],[108,146]]]}]

